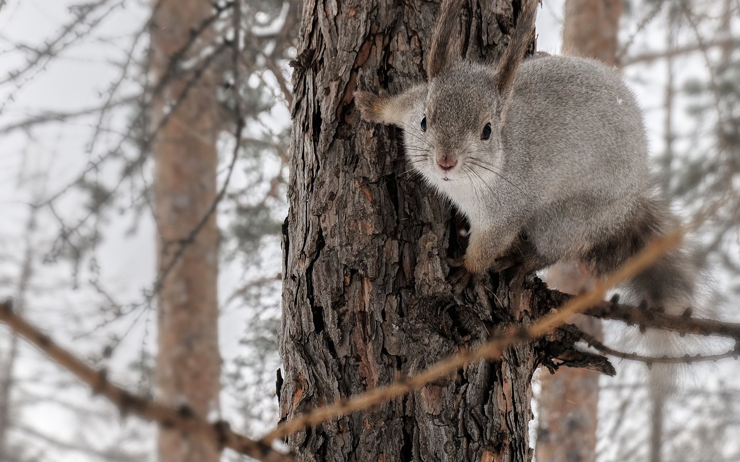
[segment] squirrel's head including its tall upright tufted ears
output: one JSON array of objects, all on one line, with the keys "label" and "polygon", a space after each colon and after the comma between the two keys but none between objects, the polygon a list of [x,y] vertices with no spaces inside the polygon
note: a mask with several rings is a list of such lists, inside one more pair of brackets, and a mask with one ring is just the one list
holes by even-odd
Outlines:
[{"label": "squirrel's head including its tall upright tufted ears", "polygon": [[428,180],[477,177],[483,181],[482,173],[497,174],[511,89],[534,33],[539,0],[526,0],[517,29],[497,64],[463,60],[450,38],[466,1],[445,0],[440,7],[427,83],[394,96],[354,92],[364,120],[403,129],[406,157]]}]

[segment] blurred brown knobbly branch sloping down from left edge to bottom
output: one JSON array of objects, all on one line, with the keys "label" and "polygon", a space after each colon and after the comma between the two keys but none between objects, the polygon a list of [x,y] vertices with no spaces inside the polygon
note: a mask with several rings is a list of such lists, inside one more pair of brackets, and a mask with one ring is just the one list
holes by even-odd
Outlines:
[{"label": "blurred brown knobbly branch sloping down from left edge to bottom", "polygon": [[161,427],[177,429],[200,441],[216,447],[233,449],[239,454],[249,455],[258,461],[295,461],[292,455],[277,452],[269,444],[254,441],[232,431],[225,421],[211,424],[194,415],[189,408],[175,410],[117,387],[107,379],[104,370],[92,369],[72,353],[55,344],[49,336],[13,313],[10,302],[0,303],[0,321],[7,324],[14,332],[36,346],[61,367],[88,384],[94,393],[108,398],[124,414],[132,412],[144,420],[156,422]]}]

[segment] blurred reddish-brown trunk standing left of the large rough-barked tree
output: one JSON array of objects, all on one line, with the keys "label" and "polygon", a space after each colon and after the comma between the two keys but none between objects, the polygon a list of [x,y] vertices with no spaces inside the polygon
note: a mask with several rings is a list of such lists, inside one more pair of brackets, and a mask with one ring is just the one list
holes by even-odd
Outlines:
[{"label": "blurred reddish-brown trunk standing left of the large rough-barked tree", "polygon": [[[212,15],[212,5],[202,0],[152,4],[157,5],[151,27],[152,71],[157,79],[171,77],[155,99],[152,126],[159,126],[172,111],[152,144],[161,282],[157,388],[164,402],[206,417],[218,412],[221,389],[215,214],[195,230],[216,198],[218,106],[212,73],[203,72],[186,90],[193,74],[181,70],[181,63],[172,64],[172,57],[189,41],[191,31]],[[201,36],[186,55],[198,56],[208,41]],[[172,106],[175,101],[180,102]],[[173,258],[176,262],[168,272]],[[218,449],[168,429],[160,429],[158,452],[163,462],[219,460]]]}]

